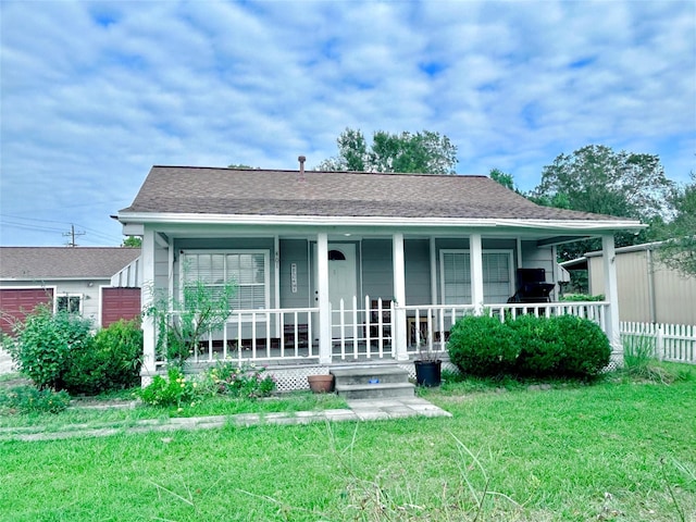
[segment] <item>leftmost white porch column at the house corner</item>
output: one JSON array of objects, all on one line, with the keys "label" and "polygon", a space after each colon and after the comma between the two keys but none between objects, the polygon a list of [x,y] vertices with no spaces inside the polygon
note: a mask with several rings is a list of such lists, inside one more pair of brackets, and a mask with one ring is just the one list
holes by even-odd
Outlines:
[{"label": "leftmost white porch column at the house corner", "polygon": [[[142,264],[142,283],[140,301],[144,310],[148,309],[154,299],[154,232],[146,227],[142,234],[140,262]],[[140,382],[142,387],[152,382],[157,373],[154,365],[157,349],[154,321],[151,316],[142,318],[142,364],[140,365]]]}]

